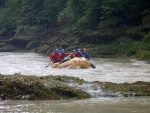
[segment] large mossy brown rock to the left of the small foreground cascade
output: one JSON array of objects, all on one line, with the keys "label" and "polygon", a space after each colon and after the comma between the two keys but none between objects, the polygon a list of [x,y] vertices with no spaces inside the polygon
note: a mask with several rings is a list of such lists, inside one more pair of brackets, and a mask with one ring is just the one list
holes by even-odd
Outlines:
[{"label": "large mossy brown rock to the left of the small foreground cascade", "polygon": [[51,79],[36,76],[1,75],[0,97],[3,100],[52,100],[90,98],[85,91]]}]

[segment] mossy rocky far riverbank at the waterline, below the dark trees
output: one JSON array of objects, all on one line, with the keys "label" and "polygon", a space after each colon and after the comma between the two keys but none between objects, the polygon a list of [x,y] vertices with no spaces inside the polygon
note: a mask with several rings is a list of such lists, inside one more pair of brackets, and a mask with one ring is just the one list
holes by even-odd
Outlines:
[{"label": "mossy rocky far riverbank at the waterline, below the dark trees", "polygon": [[[58,37],[57,37],[58,38]],[[97,58],[136,58],[138,60],[150,60],[149,43],[143,41],[113,41],[107,44],[88,44],[86,41],[81,43],[78,38],[66,38],[64,41],[56,41],[56,37],[52,37],[45,40],[34,39],[26,42],[23,39],[14,39],[10,42],[0,42],[0,52],[35,52],[46,56],[49,56],[53,51],[54,47],[57,46],[59,49],[64,48],[66,52],[72,52],[74,48],[86,47],[91,57]],[[40,42],[40,43],[39,43]],[[25,44],[24,44],[25,43]],[[53,43],[53,45],[51,45]],[[20,44],[20,45],[17,45]],[[145,46],[147,45],[147,46]]]}]

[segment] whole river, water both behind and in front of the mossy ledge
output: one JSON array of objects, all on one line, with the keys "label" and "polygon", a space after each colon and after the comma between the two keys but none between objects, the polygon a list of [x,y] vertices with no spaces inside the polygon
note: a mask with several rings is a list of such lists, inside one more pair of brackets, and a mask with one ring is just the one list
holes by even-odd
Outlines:
[{"label": "whole river, water both behind and in front of the mossy ledge", "polygon": [[[53,69],[49,57],[36,53],[0,52],[0,73],[67,75],[86,81],[124,83],[150,82],[150,64],[136,59],[92,58],[96,69]],[[0,101],[1,112],[39,113],[149,113],[150,97],[97,97],[84,100]]]}]

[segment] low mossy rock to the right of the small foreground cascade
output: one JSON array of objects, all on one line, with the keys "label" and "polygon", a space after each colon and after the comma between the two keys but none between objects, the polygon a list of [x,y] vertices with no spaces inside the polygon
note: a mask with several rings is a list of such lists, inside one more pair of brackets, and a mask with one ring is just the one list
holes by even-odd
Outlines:
[{"label": "low mossy rock to the right of the small foreground cascade", "polygon": [[105,92],[118,93],[124,97],[131,96],[150,96],[150,82],[137,81],[135,83],[111,83],[111,82],[95,82],[102,86]]}]

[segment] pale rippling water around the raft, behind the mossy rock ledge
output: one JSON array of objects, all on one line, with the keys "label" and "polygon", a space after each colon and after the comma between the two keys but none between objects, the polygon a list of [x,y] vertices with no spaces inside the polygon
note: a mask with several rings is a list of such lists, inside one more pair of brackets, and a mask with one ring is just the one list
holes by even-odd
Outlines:
[{"label": "pale rippling water around the raft, behind the mossy rock ledge", "polygon": [[150,81],[150,65],[136,59],[92,58],[96,69],[53,69],[49,57],[35,53],[0,52],[0,73],[24,75],[60,75],[74,76],[86,81],[135,82]]}]

